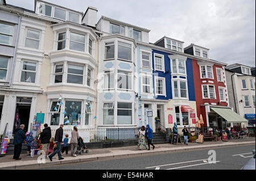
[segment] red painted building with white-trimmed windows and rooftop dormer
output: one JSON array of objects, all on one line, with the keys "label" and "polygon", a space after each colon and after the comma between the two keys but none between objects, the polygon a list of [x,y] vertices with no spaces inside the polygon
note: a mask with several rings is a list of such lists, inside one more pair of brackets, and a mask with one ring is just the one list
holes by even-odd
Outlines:
[{"label": "red painted building with white-trimmed windows and rooftop dormer", "polygon": [[230,127],[227,121],[214,111],[215,108],[229,106],[226,64],[210,60],[209,49],[194,44],[186,47],[184,52],[199,57],[192,59],[197,117],[203,116],[204,127]]}]

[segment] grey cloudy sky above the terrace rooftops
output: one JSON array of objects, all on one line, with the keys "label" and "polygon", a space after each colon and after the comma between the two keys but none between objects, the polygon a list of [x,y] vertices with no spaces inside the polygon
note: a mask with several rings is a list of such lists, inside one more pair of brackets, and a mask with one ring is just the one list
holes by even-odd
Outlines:
[{"label": "grey cloudy sky above the terrace rooftops", "polygon": [[[97,7],[101,15],[144,27],[150,42],[168,36],[210,49],[213,60],[255,66],[255,0],[45,0],[85,12]],[[34,0],[6,0],[34,10]]]}]

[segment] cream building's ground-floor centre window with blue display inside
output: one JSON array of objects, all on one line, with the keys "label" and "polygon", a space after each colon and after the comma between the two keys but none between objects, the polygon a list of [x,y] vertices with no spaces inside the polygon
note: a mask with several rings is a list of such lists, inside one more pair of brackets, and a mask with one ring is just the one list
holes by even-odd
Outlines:
[{"label": "cream building's ground-floor centre window with blue display inside", "polygon": [[80,125],[81,124],[81,101],[65,102],[64,125]]}]

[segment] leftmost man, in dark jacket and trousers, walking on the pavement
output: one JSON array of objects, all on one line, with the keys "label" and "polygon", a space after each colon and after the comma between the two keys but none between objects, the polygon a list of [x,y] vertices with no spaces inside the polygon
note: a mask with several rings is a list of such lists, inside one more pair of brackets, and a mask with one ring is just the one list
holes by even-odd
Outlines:
[{"label": "leftmost man, in dark jacket and trousers, walking on the pavement", "polygon": [[14,134],[14,140],[13,140],[14,155],[13,155],[13,159],[15,159],[15,160],[20,160],[21,159],[21,158],[19,158],[19,155],[20,155],[21,150],[22,150],[22,143],[26,138],[26,134],[23,131],[24,127],[25,127],[24,124],[20,125],[19,128],[16,129],[16,132]]}]

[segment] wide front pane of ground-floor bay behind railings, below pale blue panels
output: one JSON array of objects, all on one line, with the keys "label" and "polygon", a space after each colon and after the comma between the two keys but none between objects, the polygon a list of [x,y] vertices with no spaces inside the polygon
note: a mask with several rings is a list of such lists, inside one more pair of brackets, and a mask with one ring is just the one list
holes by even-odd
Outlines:
[{"label": "wide front pane of ground-floor bay behind railings, below pale blue panels", "polygon": [[132,124],[132,104],[117,103],[117,124]]}]

